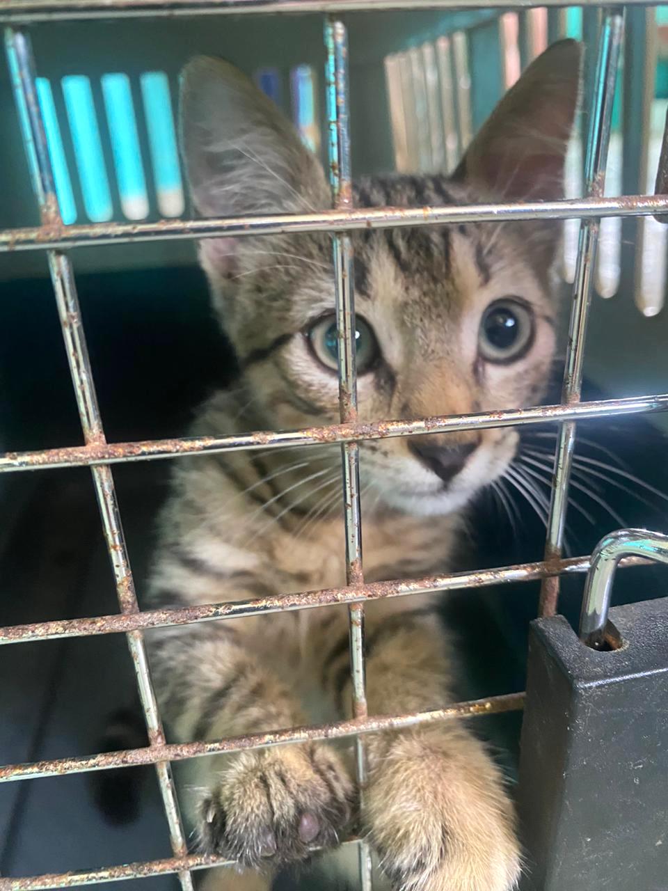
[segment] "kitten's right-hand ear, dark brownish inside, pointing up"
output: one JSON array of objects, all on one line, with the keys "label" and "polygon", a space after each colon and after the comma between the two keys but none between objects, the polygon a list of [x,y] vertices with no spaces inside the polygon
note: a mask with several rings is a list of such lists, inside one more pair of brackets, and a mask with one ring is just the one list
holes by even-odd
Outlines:
[{"label": "kitten's right-hand ear, dark brownish inside, pointing up", "polygon": [[548,47],[501,99],[452,178],[510,200],[562,198],[581,67],[581,44]]}]

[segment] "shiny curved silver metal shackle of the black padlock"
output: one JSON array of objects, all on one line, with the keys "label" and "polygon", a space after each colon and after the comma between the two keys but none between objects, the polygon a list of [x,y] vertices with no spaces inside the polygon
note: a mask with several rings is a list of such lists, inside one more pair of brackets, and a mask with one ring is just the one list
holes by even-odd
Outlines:
[{"label": "shiny curved silver metal shackle of the black padlock", "polygon": [[594,548],[584,584],[580,639],[595,650],[603,643],[615,569],[624,557],[668,563],[668,535],[647,529],[617,529],[601,538]]}]

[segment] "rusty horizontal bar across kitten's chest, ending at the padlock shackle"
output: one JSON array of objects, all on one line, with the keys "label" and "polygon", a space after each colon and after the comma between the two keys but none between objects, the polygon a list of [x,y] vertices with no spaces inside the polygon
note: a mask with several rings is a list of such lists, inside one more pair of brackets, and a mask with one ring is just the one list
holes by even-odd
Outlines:
[{"label": "rusty horizontal bar across kitten's chest, ending at the padlock shackle", "polygon": [[[634,566],[639,562],[641,561],[630,558],[624,560],[621,565]],[[273,612],[315,609],[341,603],[382,600],[386,597],[459,591],[462,588],[481,588],[490,584],[531,582],[561,573],[571,575],[587,572],[590,565],[591,560],[587,556],[570,557],[567,560],[555,560],[552,563],[539,560],[535,563],[516,563],[513,566],[474,569],[469,572],[456,572],[444,576],[424,576],[390,582],[346,585],[341,588],[323,588],[318,591],[259,597],[255,600],[224,601],[223,603],[205,603],[179,609],[146,609],[120,615],[116,613],[111,616],[54,619],[50,622],[32,622],[26,625],[5,625],[0,627],[0,645],[54,641],[64,637],[90,637],[97,634],[127,634],[136,630],[146,631],[149,628],[211,622],[220,618],[263,616]]]}]

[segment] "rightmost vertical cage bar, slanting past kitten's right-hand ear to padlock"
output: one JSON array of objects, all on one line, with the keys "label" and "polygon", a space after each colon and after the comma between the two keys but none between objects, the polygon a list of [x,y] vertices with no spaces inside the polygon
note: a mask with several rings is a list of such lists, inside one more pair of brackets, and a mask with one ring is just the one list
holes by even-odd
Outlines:
[{"label": "rightmost vertical cage bar, slanting past kitten's right-hand ear to padlock", "polygon": [[[599,55],[594,78],[594,96],[585,160],[587,194],[595,198],[603,195],[606,184],[607,149],[610,142],[615,84],[622,39],[623,10],[607,10],[599,32]],[[596,264],[598,240],[599,220],[582,220],[561,399],[566,405],[579,402],[581,396],[584,343],[591,307],[592,277]],[[545,560],[558,559],[564,544],[568,483],[573,464],[574,443],[575,423],[566,421],[561,425],[559,431],[557,454],[555,455],[555,475],[550,498]],[[540,602],[542,616],[553,616],[556,613],[558,593],[558,576],[543,582]]]}]

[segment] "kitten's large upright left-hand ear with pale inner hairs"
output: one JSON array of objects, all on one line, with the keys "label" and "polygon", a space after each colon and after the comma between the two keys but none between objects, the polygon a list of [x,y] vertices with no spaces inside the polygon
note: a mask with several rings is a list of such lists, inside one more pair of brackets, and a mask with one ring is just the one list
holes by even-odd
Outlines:
[{"label": "kitten's large upright left-hand ear with pale inner hairs", "polygon": [[181,75],[181,146],[204,217],[329,206],[324,173],[297,131],[239,69],[204,56]]}]

